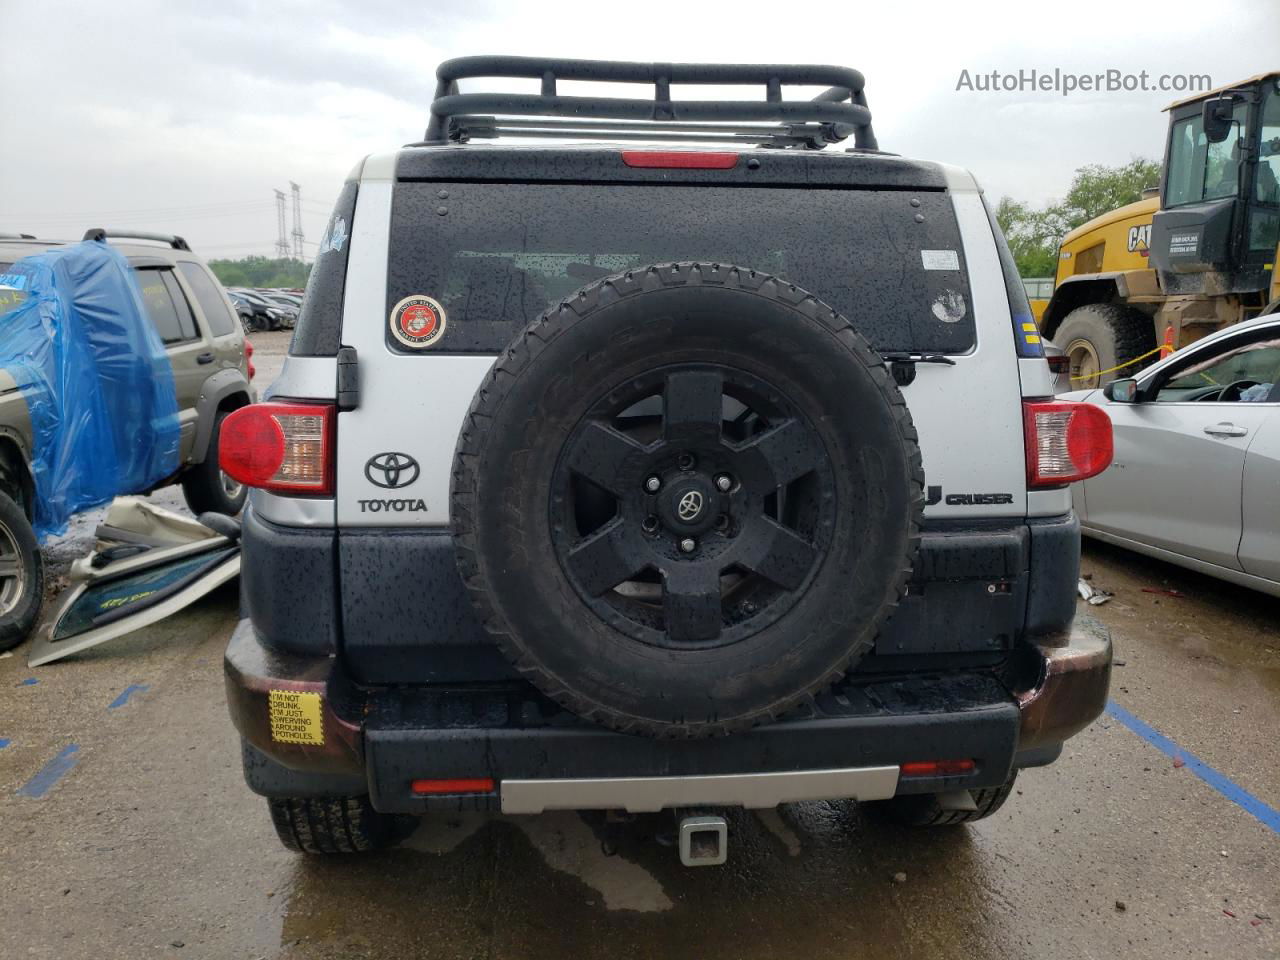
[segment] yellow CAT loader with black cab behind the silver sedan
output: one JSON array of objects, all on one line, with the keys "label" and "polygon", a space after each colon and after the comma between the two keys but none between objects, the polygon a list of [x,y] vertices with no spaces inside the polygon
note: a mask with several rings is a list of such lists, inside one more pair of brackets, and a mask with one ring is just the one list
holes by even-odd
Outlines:
[{"label": "yellow CAT loader with black cab behind the silver sedan", "polygon": [[1280,72],[1179,100],[1158,196],[1071,230],[1042,333],[1073,389],[1280,310]]}]

